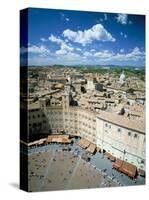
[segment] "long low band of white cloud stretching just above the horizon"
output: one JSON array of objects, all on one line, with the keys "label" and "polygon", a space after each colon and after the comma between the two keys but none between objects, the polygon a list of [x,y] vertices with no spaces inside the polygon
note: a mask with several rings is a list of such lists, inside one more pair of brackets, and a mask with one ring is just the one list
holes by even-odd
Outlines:
[{"label": "long low band of white cloud stretching just above the horizon", "polygon": [[[93,64],[93,63],[125,63],[125,62],[138,62],[145,61],[145,52],[139,47],[133,48],[128,53],[124,53],[124,49],[120,49],[119,53],[114,53],[110,50],[103,50],[99,52],[73,52],[66,47],[61,48],[56,51],[56,53],[51,53],[50,56],[47,56],[46,53],[35,54],[34,57],[29,56],[29,59],[32,63],[63,63],[63,64]],[[38,62],[37,62],[38,61]]]}]

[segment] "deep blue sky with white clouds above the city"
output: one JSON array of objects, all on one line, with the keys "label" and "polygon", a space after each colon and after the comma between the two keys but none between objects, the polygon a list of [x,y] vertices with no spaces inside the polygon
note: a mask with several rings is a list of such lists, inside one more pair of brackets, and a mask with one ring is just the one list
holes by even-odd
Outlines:
[{"label": "deep blue sky with white clouds above the city", "polygon": [[27,51],[29,65],[144,66],[145,16],[30,8]]}]

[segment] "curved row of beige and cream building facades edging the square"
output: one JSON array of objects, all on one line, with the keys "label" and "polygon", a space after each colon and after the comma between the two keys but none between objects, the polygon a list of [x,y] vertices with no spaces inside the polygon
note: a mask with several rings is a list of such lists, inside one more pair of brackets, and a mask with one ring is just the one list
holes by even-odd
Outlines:
[{"label": "curved row of beige and cream building facades edging the square", "polygon": [[[40,109],[30,109],[30,133],[38,129],[47,134],[64,131],[96,144],[116,158],[145,170],[145,127],[123,116],[104,111],[96,113],[79,106],[69,106],[70,96],[62,96],[62,105],[51,106],[40,101]],[[35,124],[37,124],[35,126]]]}]

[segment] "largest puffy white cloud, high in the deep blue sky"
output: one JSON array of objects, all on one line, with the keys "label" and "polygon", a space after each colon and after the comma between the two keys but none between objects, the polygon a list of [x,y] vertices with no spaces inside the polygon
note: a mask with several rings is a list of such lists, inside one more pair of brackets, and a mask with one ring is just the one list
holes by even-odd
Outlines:
[{"label": "largest puffy white cloud, high in the deep blue sky", "polygon": [[84,31],[72,31],[70,29],[66,29],[63,32],[63,36],[67,37],[69,40],[73,42],[77,42],[85,46],[86,44],[92,43],[93,40],[98,41],[110,41],[115,42],[116,39],[112,37],[111,33],[109,33],[101,24],[94,25],[91,29]]}]

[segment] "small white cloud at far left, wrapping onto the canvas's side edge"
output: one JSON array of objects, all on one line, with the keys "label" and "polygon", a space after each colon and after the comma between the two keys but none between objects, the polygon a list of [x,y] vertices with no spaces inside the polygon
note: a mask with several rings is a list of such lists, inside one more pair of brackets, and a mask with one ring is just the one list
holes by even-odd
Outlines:
[{"label": "small white cloud at far left, wrapping onto the canvas's side edge", "polygon": [[21,47],[21,53],[26,53],[26,52],[41,54],[41,53],[50,53],[50,50],[47,49],[43,45],[41,45],[41,46],[30,45],[27,48],[26,47]]}]

